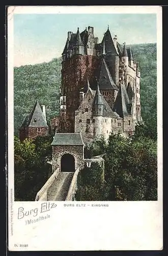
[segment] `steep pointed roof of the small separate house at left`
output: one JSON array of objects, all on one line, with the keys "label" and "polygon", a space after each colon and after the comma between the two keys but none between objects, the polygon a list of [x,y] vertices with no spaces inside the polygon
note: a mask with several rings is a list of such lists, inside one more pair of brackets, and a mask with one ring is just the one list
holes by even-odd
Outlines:
[{"label": "steep pointed roof of the small separate house at left", "polygon": [[25,127],[25,126],[48,127],[38,100],[34,104],[31,113],[24,117],[20,127]]}]

